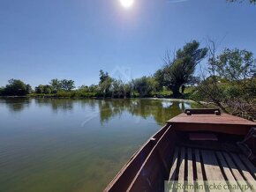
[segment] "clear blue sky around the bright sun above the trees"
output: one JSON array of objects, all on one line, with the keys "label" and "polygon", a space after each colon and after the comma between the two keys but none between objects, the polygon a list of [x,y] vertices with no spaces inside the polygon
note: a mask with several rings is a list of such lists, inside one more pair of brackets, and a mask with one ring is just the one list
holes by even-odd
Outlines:
[{"label": "clear blue sky around the bright sun above the trees", "polygon": [[73,79],[98,84],[99,70],[128,81],[162,67],[166,50],[207,37],[256,55],[256,5],[225,0],[1,0],[0,86]]}]

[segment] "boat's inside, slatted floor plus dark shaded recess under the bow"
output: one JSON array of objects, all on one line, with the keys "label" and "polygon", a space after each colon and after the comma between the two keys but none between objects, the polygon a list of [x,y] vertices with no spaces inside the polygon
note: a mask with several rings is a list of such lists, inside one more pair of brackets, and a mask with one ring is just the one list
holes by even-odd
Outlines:
[{"label": "boat's inside, slatted floor plus dark shaded recess under the bow", "polygon": [[[169,181],[244,181],[253,184],[256,167],[237,145],[243,137],[228,134],[203,133],[208,139],[189,137],[195,133],[178,132],[172,151]],[[197,133],[196,133],[197,134]],[[180,136],[178,136],[180,135]],[[207,139],[207,138],[206,138]],[[253,183],[250,183],[252,182]]]}]

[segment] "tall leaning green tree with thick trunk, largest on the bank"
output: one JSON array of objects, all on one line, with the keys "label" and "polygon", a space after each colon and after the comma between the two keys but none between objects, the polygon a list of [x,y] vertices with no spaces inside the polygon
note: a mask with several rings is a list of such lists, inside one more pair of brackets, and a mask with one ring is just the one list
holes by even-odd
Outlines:
[{"label": "tall leaning green tree with thick trunk, largest on the bank", "polygon": [[159,85],[167,86],[174,98],[180,98],[180,87],[189,83],[198,63],[207,55],[207,48],[200,48],[198,41],[186,43],[183,48],[177,50],[173,59],[169,54],[164,58],[165,66],[157,70],[154,77]]}]

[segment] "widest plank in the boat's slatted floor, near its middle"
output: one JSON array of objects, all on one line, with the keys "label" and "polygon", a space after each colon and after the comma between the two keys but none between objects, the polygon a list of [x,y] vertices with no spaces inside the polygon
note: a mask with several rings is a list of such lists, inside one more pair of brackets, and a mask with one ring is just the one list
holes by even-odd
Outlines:
[{"label": "widest plank in the boat's slatted floor, near its middle", "polygon": [[202,157],[207,174],[207,181],[225,181],[221,168],[215,158],[214,151],[203,151]]}]

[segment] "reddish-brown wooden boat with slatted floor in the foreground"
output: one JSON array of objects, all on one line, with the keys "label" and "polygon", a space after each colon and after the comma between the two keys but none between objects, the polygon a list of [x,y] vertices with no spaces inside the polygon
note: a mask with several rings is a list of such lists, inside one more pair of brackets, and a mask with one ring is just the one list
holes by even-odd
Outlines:
[{"label": "reddish-brown wooden boat with slatted floor in the foreground", "polygon": [[187,109],[170,119],[104,191],[164,191],[164,181],[256,180],[256,127],[218,109]]}]

